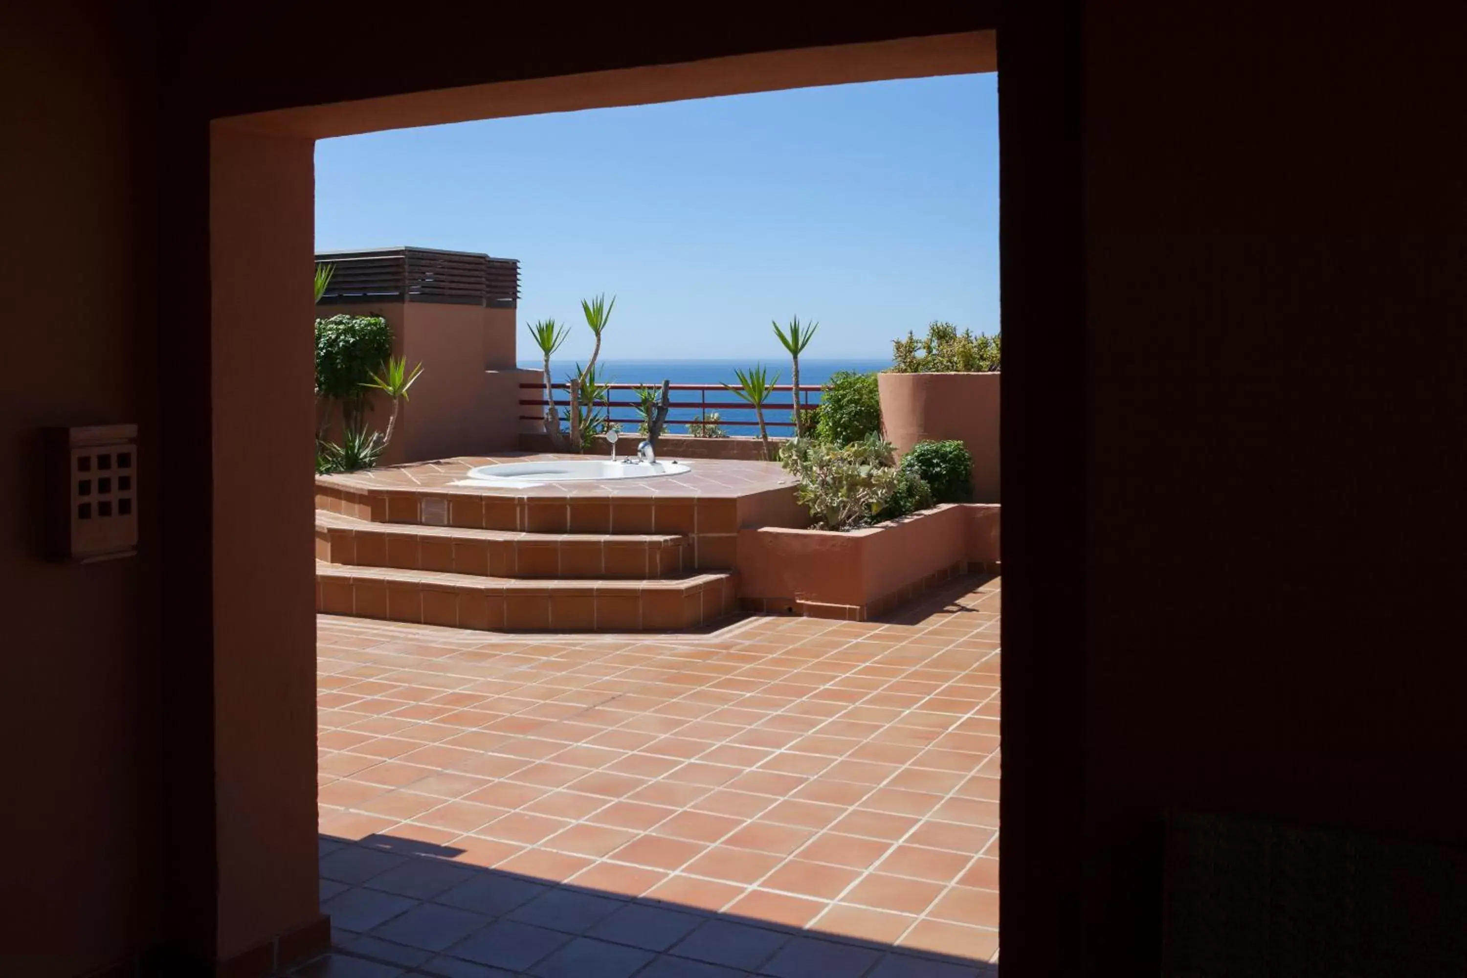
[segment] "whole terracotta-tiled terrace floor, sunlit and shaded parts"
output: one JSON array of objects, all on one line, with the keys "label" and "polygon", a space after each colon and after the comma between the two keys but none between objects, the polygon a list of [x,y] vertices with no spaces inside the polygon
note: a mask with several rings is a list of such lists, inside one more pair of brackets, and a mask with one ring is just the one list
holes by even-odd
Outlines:
[{"label": "whole terracotta-tiled terrace floor, sunlit and shaded parts", "polygon": [[302,975],[990,974],[999,579],[888,623],[321,617]]}]

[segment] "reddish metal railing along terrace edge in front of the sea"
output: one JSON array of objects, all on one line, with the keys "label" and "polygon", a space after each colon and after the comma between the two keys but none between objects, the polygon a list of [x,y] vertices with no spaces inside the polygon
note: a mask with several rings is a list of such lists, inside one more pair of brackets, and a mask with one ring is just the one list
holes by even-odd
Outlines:
[{"label": "reddish metal railing along terrace edge in front of the sea", "polygon": [[[604,408],[607,412],[607,419],[613,424],[622,425],[638,425],[643,422],[641,415],[641,400],[618,400],[618,391],[637,391],[643,389],[662,390],[662,384],[600,384],[604,390],[604,396],[597,397],[591,405],[593,409]],[[544,383],[522,383],[519,384],[519,419],[521,421],[540,421],[544,418],[546,399],[544,399]],[[538,396],[527,397],[524,391],[533,390]],[[747,400],[739,400],[736,396],[731,394],[731,390],[742,390],[739,386],[725,387],[723,384],[669,384],[669,400],[667,400],[667,430],[673,434],[675,428],[684,428],[688,425],[709,424],[717,425],[719,428],[758,428],[758,418],[754,416],[754,405]],[[795,406],[795,389],[792,384],[775,384],[770,387],[773,396],[764,402],[764,427],[766,428],[794,428],[794,411]],[[550,384],[549,403],[556,406],[556,411],[565,416],[571,409],[571,384],[566,381]],[[565,391],[562,399],[559,394]],[[697,397],[687,396],[691,391],[697,391]],[[717,399],[709,400],[709,393],[717,393],[728,397],[728,400]],[[814,411],[819,403],[810,403],[810,394],[819,394],[820,384],[801,384],[798,394],[798,408],[801,412]],[[679,394],[684,397],[679,399]],[[780,397],[783,394],[783,397]],[[582,405],[584,406],[584,405]],[[537,413],[528,413],[525,408],[535,408]],[[621,411],[619,416],[616,412]],[[729,418],[725,412],[741,411],[748,412],[747,418]],[[692,416],[688,416],[689,412]],[[707,416],[710,413],[717,413],[719,419],[709,422]]]}]

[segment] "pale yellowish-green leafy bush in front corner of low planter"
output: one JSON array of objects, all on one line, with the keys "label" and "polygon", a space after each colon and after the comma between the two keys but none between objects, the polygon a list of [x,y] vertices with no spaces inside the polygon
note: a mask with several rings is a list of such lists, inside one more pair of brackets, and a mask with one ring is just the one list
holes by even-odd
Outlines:
[{"label": "pale yellowish-green leafy bush in front corner of low planter", "polygon": [[786,441],[785,471],[800,479],[795,499],[810,510],[816,529],[852,529],[873,522],[902,484],[892,446],[870,437],[854,444]]}]

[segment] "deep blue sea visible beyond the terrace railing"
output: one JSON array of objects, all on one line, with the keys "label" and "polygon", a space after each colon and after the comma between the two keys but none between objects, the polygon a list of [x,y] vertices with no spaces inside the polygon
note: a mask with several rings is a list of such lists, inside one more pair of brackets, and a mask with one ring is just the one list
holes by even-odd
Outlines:
[{"label": "deep blue sea visible beyond the terrace railing", "polygon": [[[764,368],[770,374],[779,372],[779,383],[789,383],[789,359],[763,359]],[[543,367],[538,361],[521,361],[519,365],[527,369],[540,369]],[[734,384],[738,386],[738,375],[735,369],[748,369],[754,365],[754,361],[731,361],[731,359],[665,359],[665,361],[631,361],[631,359],[603,359],[597,364],[597,374],[601,380],[612,384],[647,384],[648,387],[660,387],[662,381],[667,380],[673,384]],[[823,384],[830,380],[832,374],[841,371],[852,371],[858,374],[870,374],[879,369],[885,369],[892,365],[890,359],[804,359],[800,361],[800,384]],[[552,378],[565,381],[566,375],[575,369],[571,362],[552,361],[550,374]],[[528,393],[528,391],[527,391]],[[556,391],[557,399],[565,399],[565,391]],[[703,403],[707,403],[709,411],[716,411],[720,415],[720,425],[726,434],[731,435],[756,435],[758,434],[758,427],[754,422],[753,411],[738,411],[729,409],[728,405],[744,403],[736,394],[714,389],[706,393],[697,390],[673,390],[672,391],[672,411],[667,412],[667,434],[684,434],[687,433],[687,422],[694,421],[703,413]],[[807,403],[820,403],[820,393],[810,391],[804,400]],[[635,431],[641,415],[629,405],[637,403],[637,394],[631,390],[613,390],[612,391],[612,421],[621,422],[623,431]],[[691,405],[691,406],[688,406]],[[764,421],[766,422],[783,422],[770,424],[769,434],[789,434],[789,391],[780,390],[770,394],[770,399],[764,403]],[[527,411],[528,413],[528,411]],[[741,424],[729,424],[729,422]],[[682,422],[682,424],[678,424]]]}]

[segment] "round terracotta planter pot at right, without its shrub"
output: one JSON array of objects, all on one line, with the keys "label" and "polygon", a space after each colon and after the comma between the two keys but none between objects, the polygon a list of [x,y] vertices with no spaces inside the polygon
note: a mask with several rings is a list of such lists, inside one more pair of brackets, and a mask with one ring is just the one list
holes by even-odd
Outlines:
[{"label": "round terracotta planter pot at right, without its shrub", "polygon": [[973,501],[998,503],[999,377],[998,372],[877,374],[886,440],[898,456],[918,441],[962,441],[973,453]]}]

